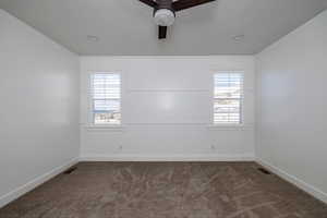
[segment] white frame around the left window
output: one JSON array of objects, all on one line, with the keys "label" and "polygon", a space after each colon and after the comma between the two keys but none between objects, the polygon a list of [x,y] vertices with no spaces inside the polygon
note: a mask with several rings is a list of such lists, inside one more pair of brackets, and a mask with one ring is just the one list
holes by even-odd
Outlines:
[{"label": "white frame around the left window", "polygon": [[[93,90],[93,75],[95,74],[119,74],[120,75],[120,123],[108,123],[108,124],[97,124],[94,120],[94,90]],[[123,74],[121,71],[89,71],[87,73],[88,80],[88,128],[92,129],[121,129],[123,125]]]}]

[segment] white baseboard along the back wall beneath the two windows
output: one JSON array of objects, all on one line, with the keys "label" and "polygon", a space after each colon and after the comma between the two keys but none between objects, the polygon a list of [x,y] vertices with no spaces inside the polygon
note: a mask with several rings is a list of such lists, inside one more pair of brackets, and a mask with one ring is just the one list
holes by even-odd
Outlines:
[{"label": "white baseboard along the back wall beneath the two windows", "polygon": [[98,155],[85,154],[80,157],[80,161],[254,161],[254,154],[238,155]]}]

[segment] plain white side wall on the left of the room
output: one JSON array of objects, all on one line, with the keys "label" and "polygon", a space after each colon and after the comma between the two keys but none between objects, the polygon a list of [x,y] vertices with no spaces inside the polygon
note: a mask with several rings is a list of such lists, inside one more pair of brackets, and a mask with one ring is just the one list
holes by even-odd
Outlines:
[{"label": "plain white side wall on the left of the room", "polygon": [[78,156],[78,68],[0,10],[0,207]]}]

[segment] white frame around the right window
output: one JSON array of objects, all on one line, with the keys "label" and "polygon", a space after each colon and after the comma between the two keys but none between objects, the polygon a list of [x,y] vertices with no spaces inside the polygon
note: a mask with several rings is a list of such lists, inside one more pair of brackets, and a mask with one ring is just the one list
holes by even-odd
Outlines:
[{"label": "white frame around the right window", "polygon": [[[219,73],[240,73],[242,74],[243,84],[242,84],[242,98],[240,101],[240,122],[239,123],[215,123],[215,76]],[[211,124],[209,126],[213,128],[243,128],[245,126],[244,120],[245,120],[245,113],[244,113],[244,101],[245,101],[245,71],[243,70],[214,70],[211,72]]]}]

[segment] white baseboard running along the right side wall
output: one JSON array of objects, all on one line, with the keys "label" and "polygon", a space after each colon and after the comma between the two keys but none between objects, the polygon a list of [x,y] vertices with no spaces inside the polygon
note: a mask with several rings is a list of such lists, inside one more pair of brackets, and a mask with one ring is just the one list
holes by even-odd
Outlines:
[{"label": "white baseboard running along the right side wall", "polygon": [[263,167],[267,168],[275,174],[279,175],[280,178],[287,180],[288,182],[296,185],[299,189],[303,190],[304,192],[313,195],[314,197],[320,199],[322,202],[327,204],[327,193],[320,191],[319,189],[304,182],[303,180],[300,180],[299,178],[287,173],[286,171],[270,165],[269,162],[257,158],[256,161],[262,165]]}]

